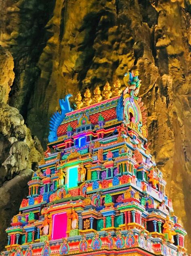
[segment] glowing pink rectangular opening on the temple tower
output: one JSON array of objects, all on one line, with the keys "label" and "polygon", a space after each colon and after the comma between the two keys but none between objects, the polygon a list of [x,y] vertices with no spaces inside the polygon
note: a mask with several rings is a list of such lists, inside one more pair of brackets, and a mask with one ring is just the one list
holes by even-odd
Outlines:
[{"label": "glowing pink rectangular opening on the temple tower", "polygon": [[67,213],[52,215],[52,240],[66,237]]}]

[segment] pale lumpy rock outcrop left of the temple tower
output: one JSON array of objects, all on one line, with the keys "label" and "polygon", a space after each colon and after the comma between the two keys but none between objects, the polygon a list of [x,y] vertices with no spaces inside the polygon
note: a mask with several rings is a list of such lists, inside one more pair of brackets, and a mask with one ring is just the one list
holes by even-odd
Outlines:
[{"label": "pale lumpy rock outcrop left of the temple tower", "polygon": [[42,147],[24,124],[19,110],[6,104],[13,83],[13,57],[0,47],[0,246],[6,244],[6,227],[18,213],[27,182],[41,159]]}]

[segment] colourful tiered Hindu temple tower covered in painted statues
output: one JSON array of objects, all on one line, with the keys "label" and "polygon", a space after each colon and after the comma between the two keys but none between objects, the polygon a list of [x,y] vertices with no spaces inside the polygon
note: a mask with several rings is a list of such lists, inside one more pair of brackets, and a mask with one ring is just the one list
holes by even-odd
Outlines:
[{"label": "colourful tiered Hindu temple tower covered in painted statues", "polygon": [[138,73],[67,95],[1,255],[186,255],[185,230],[151,156]]}]

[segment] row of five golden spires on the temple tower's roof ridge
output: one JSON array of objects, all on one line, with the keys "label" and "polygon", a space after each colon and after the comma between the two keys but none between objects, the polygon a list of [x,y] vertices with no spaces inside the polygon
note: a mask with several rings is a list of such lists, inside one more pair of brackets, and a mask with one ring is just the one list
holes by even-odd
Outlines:
[{"label": "row of five golden spires on the temple tower's roof ridge", "polygon": [[114,96],[121,95],[122,93],[121,86],[122,85],[119,79],[115,81],[115,83],[113,84],[113,88],[111,88],[111,86],[109,85],[109,82],[106,82],[102,92],[99,86],[97,85],[93,90],[93,94],[94,94],[93,97],[90,90],[87,88],[84,93],[83,100],[82,100],[81,93],[78,92],[75,98],[76,109],[89,106],[93,103],[98,103],[102,101],[102,99],[110,99],[111,96],[114,97]]}]

